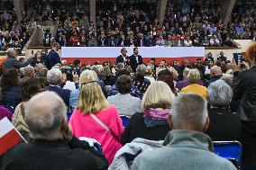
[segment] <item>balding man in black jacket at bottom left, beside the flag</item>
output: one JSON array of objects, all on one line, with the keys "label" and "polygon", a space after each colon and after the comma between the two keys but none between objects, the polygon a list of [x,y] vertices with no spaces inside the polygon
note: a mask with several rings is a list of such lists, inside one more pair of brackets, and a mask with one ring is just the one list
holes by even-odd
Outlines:
[{"label": "balding man in black jacket at bottom left, beside the flag", "polygon": [[7,151],[3,169],[107,169],[107,160],[101,153],[72,135],[66,113],[66,105],[58,94],[34,95],[25,116],[32,142],[20,143]]}]

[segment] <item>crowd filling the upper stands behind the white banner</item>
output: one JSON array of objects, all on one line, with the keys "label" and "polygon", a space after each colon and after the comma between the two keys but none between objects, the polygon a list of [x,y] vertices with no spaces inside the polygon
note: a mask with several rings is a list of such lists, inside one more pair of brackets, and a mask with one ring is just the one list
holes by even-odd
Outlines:
[{"label": "crowd filling the upper stands behind the white banner", "polygon": [[59,25],[57,33],[44,32],[45,47],[53,41],[76,47],[231,47],[233,40],[256,40],[256,4],[250,0],[236,3],[227,25],[220,19],[221,4],[218,0],[169,0],[160,24],[156,2],[97,1],[94,24],[89,21],[88,2],[25,1],[21,24],[14,7],[0,13],[0,49],[22,50],[36,25],[52,24]]}]

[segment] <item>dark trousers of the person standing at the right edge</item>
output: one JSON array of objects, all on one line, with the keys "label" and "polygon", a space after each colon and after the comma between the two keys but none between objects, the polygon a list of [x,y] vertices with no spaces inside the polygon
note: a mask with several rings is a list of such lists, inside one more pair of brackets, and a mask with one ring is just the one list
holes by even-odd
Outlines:
[{"label": "dark trousers of the person standing at the right edge", "polygon": [[256,121],[242,121],[242,169],[256,170]]}]

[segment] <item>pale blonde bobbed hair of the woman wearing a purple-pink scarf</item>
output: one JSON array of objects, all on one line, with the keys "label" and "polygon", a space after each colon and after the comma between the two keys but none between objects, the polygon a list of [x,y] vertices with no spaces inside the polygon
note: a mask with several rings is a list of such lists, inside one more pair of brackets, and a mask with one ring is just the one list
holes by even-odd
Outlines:
[{"label": "pale blonde bobbed hair of the woman wearing a purple-pink scarf", "polygon": [[142,110],[148,108],[170,108],[175,95],[171,92],[169,85],[162,81],[151,83],[142,98]]}]

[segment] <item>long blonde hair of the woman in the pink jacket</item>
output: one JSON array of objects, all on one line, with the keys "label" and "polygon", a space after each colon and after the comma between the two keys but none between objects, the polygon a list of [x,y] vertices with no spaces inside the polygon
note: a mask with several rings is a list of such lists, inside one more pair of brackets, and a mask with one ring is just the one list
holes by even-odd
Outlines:
[{"label": "long blonde hair of the woman in the pink jacket", "polygon": [[78,98],[78,110],[82,112],[82,114],[94,114],[108,106],[109,103],[105,99],[100,85],[97,85],[96,82],[82,84]]}]

